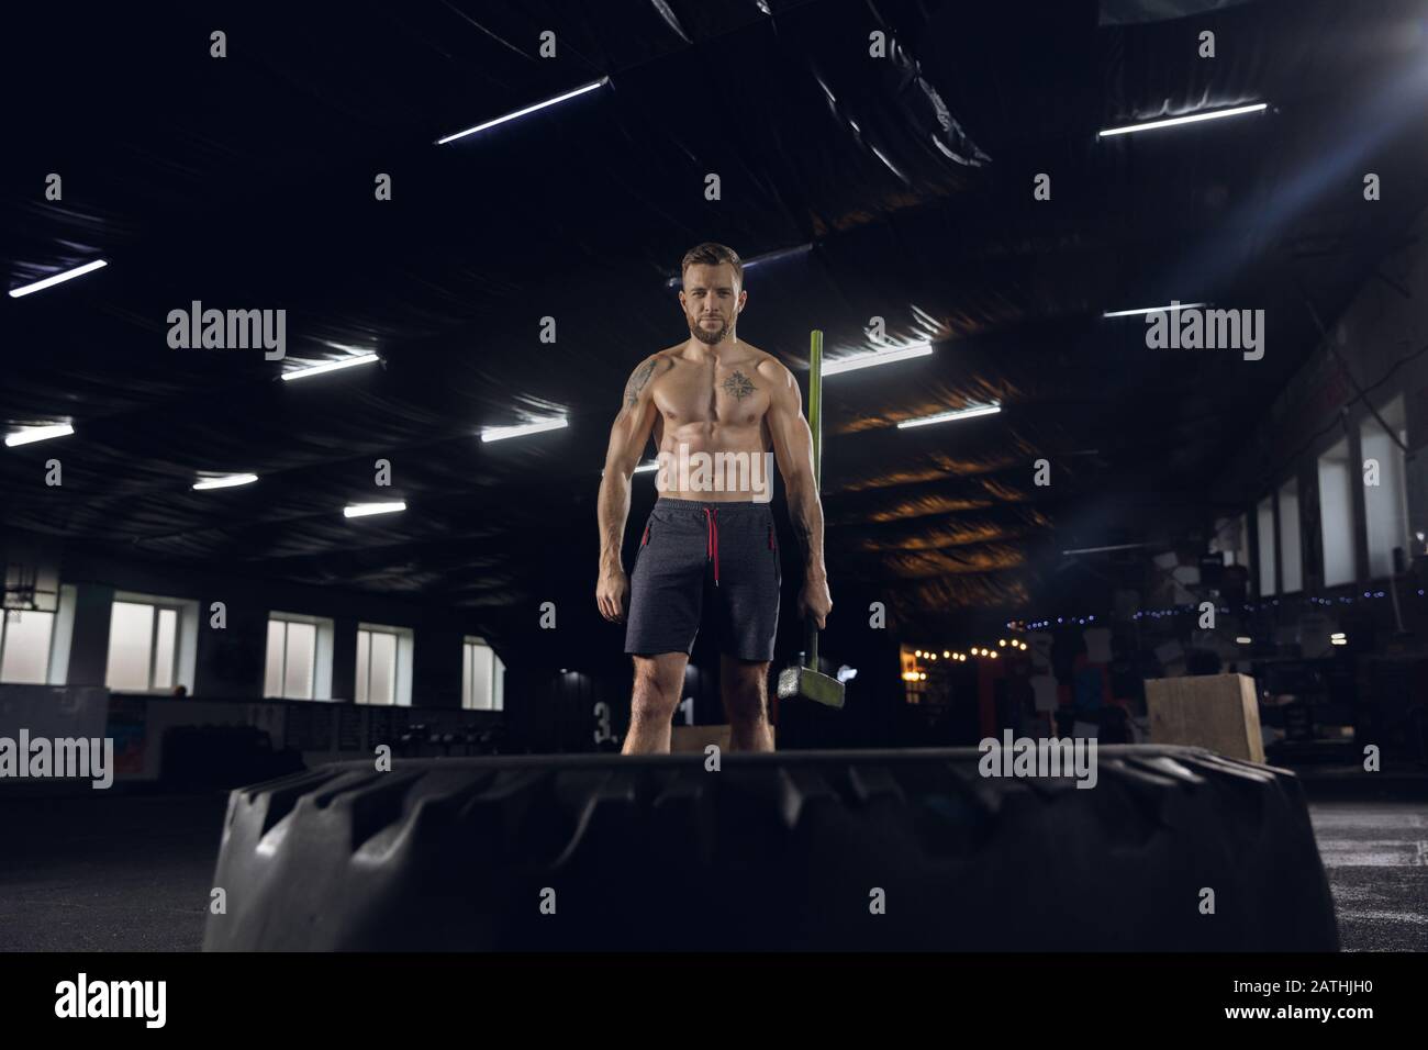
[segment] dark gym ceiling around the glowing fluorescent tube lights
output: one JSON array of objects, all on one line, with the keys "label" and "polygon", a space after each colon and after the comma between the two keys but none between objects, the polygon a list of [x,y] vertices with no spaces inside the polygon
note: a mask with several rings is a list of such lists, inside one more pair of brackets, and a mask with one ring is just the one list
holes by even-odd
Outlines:
[{"label": "dark gym ceiling around the glowing fluorescent tube lights", "polygon": [[[1207,521],[1314,347],[1305,299],[1334,317],[1428,201],[1421,0],[1180,0],[1205,10],[1170,20],[1151,0],[1114,19],[1088,1],[196,7],[7,13],[9,287],[110,264],[0,306],[0,420],[77,431],[0,449],[0,523],[451,606],[513,649],[536,644],[541,601],[598,623],[608,426],[631,369],[687,334],[671,279],[698,241],[761,260],[740,336],[801,376],[814,327],[833,359],[868,346],[873,317],[935,343],[830,377],[824,446],[834,601],[881,596],[930,626],[1052,601],[1070,543]],[[1365,209],[1369,170],[1394,191]],[[1171,299],[1264,309],[1264,360],[1148,351],[1140,319],[1101,319]],[[167,314],[193,300],[286,309],[290,360],[170,349]],[[277,381],[350,349],[383,364]],[[892,426],[988,399],[1001,414]],[[477,437],[550,414],[570,426]],[[261,480],[191,491],[200,471]],[[388,496],[407,511],[341,514]],[[651,500],[638,476],[631,516]]]}]

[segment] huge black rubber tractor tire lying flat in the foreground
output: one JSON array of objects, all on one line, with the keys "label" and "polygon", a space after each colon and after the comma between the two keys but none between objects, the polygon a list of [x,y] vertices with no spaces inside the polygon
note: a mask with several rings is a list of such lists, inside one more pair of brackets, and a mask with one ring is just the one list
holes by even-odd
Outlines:
[{"label": "huge black rubber tractor tire lying flat in the foreground", "polygon": [[[1334,951],[1299,780],[1107,746],[326,766],[230,794],[204,949]],[[1207,890],[1212,910],[1207,910]]]}]

